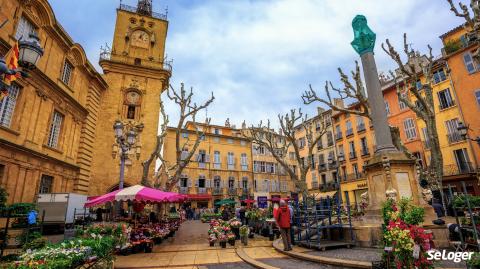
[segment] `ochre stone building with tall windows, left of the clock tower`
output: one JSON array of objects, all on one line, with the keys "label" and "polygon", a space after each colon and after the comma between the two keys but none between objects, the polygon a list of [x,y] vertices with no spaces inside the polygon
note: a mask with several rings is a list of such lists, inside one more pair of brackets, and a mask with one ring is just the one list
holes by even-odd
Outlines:
[{"label": "ochre stone building with tall windows, left of the clock tower", "polygon": [[105,80],[56,20],[46,0],[3,1],[0,55],[36,33],[44,49],[30,78],[0,101],[0,184],[8,202],[38,193],[87,193]]}]

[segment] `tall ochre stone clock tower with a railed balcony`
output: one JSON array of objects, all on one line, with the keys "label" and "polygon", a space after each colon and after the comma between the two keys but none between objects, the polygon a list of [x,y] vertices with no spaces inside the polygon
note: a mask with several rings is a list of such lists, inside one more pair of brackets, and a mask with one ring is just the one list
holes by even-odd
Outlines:
[{"label": "tall ochre stone clock tower with a railed balcony", "polygon": [[165,60],[167,29],[166,15],[153,12],[151,0],[139,0],[137,7],[120,4],[117,9],[112,47],[103,49],[100,55],[109,88],[102,97],[92,96],[101,101],[90,195],[118,186],[120,158],[113,131],[116,120],[138,133],[126,161],[125,186],[141,181],[141,163],[155,147],[160,95],[168,87],[172,71]]}]

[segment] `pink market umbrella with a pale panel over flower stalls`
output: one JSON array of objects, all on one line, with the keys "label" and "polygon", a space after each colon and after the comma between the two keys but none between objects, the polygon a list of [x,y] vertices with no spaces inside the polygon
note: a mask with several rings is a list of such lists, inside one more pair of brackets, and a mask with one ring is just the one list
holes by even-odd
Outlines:
[{"label": "pink market umbrella with a pale panel over flower stalls", "polygon": [[148,188],[141,185],[135,185],[122,190],[116,190],[96,197],[85,203],[85,207],[101,205],[112,201],[144,201],[155,203],[176,203],[186,199],[185,195],[175,192],[164,192],[157,189]]}]

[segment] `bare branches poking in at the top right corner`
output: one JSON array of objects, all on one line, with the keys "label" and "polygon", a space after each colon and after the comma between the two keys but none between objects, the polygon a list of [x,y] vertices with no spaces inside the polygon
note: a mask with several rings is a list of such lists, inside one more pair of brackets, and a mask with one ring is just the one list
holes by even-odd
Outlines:
[{"label": "bare branches poking in at the top right corner", "polygon": [[477,49],[473,53],[473,58],[477,62],[480,62],[480,0],[470,0],[470,9],[472,12],[470,12],[467,5],[462,2],[458,3],[461,12],[455,7],[452,0],[447,0],[447,2],[450,4],[450,10],[455,16],[465,19],[465,27],[468,31],[468,41],[477,44]]}]

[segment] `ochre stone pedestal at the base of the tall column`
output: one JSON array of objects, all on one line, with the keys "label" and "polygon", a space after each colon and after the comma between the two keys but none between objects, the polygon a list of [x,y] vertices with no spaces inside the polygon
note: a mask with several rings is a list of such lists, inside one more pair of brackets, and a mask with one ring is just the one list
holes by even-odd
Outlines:
[{"label": "ochre stone pedestal at the base of the tall column", "polygon": [[404,153],[391,151],[376,153],[366,166],[369,205],[364,224],[382,224],[382,204],[388,197],[399,201],[402,197],[412,199],[413,204],[425,208],[424,224],[436,219],[433,208],[422,198],[421,187],[415,171],[415,161]]}]

